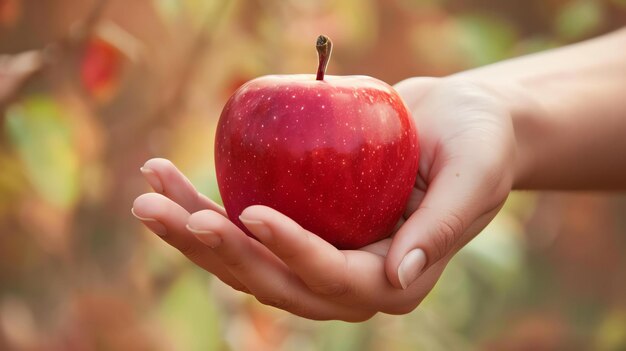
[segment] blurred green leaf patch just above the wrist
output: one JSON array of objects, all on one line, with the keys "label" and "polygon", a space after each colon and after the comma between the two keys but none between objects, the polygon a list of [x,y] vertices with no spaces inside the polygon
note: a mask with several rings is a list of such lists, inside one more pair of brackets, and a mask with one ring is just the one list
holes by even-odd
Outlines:
[{"label": "blurred green leaf patch just above the wrist", "polygon": [[457,18],[459,45],[473,66],[508,58],[517,39],[515,28],[495,16],[463,15]]}]

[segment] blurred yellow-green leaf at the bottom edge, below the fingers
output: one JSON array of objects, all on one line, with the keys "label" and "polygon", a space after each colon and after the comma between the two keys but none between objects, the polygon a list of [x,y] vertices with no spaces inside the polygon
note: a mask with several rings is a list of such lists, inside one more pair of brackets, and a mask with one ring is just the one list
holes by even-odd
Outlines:
[{"label": "blurred yellow-green leaf at the bottom edge, below the fingers", "polygon": [[[173,283],[158,307],[158,318],[176,350],[223,350],[220,317],[207,275],[189,270]],[[167,349],[167,348],[166,348]]]}]

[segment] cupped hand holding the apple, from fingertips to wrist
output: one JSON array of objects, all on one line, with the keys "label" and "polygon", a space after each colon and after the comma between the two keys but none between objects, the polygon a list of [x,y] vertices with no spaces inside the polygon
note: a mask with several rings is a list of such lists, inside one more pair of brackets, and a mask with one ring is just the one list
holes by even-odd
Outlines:
[{"label": "cupped hand holding the apple, from fingertips to wrist", "polygon": [[237,223],[255,240],[163,159],[142,168],[156,193],[139,196],[133,213],[196,264],[262,303],[310,319],[408,313],[503,204],[513,182],[515,138],[504,102],[473,83],[413,78],[396,90],[419,128],[421,155],[392,237],[340,250],[292,218],[255,205],[242,209]]}]

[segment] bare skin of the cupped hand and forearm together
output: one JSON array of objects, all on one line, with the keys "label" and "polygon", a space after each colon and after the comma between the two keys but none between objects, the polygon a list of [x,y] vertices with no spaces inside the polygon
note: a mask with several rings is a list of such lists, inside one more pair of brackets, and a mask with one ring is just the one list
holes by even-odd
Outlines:
[{"label": "bare skin of the cupped hand and forearm together", "polygon": [[[261,303],[310,319],[412,311],[512,189],[626,189],[626,30],[546,53],[395,86],[420,131],[406,221],[392,238],[341,251],[264,206],[245,235],[164,159],[133,213],[193,262]],[[415,248],[425,266],[403,289]],[[406,281],[405,281],[406,283]]]}]

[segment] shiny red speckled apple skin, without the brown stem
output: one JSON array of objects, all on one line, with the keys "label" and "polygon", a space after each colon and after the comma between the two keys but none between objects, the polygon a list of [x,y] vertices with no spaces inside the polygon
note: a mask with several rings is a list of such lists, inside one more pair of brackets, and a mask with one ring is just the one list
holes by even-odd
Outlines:
[{"label": "shiny red speckled apple skin, without the brown stem", "polygon": [[415,184],[419,144],[404,102],[367,76],[275,75],[226,103],[215,164],[226,212],[269,206],[339,249],[389,236]]}]

